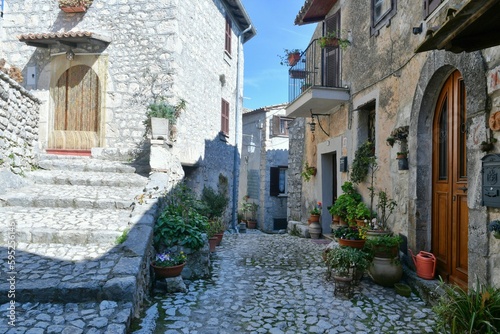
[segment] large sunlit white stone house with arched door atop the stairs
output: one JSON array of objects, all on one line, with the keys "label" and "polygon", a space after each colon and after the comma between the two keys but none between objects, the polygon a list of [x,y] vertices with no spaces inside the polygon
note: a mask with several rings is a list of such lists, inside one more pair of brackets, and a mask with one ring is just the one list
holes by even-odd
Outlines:
[{"label": "large sunlit white stone house with arched door atop the stairs", "polygon": [[40,100],[39,149],[137,159],[147,106],[185,101],[170,125],[172,159],[195,190],[221,175],[236,189],[243,44],[256,34],[241,1],[59,2],[2,1],[0,58]]}]

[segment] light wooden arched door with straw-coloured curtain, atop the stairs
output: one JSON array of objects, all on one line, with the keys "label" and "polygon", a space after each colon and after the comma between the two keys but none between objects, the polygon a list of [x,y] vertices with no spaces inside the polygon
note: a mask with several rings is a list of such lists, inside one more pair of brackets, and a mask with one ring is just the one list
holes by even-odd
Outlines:
[{"label": "light wooden arched door with straw-coloured curtain, atop the stairs", "polygon": [[99,146],[99,77],[86,65],[70,67],[54,88],[50,149],[90,150]]}]

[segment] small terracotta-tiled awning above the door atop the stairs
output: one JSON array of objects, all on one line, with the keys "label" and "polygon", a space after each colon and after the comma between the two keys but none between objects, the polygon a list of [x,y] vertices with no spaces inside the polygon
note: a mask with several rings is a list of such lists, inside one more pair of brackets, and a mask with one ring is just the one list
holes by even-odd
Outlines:
[{"label": "small terracotta-tiled awning above the door atop the stairs", "polygon": [[51,45],[63,44],[72,48],[82,44],[106,46],[111,43],[111,38],[94,34],[90,31],[67,31],[67,32],[49,32],[22,34],[17,36],[20,42],[26,45],[48,48]]}]

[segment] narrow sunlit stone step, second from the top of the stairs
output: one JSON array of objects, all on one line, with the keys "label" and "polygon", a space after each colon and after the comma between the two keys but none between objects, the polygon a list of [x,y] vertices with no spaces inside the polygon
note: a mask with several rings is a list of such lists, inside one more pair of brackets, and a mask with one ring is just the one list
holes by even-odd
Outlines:
[{"label": "narrow sunlit stone step, second from the top of the stairs", "polygon": [[84,185],[98,187],[145,187],[148,179],[134,173],[35,170],[26,173],[37,184]]}]

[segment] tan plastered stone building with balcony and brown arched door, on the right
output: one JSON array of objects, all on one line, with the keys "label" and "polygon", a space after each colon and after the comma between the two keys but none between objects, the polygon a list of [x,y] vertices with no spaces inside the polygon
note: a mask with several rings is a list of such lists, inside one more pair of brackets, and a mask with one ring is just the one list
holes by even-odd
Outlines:
[{"label": "tan plastered stone building with balcony and brown arched door, on the right", "polygon": [[[398,204],[391,230],[413,251],[432,251],[446,281],[499,285],[500,242],[487,231],[500,216],[497,174],[487,170],[484,191],[482,164],[500,149],[480,145],[500,137],[499,13],[497,0],[306,0],[295,23],[317,28],[289,70],[287,115],[302,122],[291,132],[289,219],[305,221],[310,204],[322,201],[329,233],[327,206],[370,140],[376,191]],[[318,39],[331,31],[349,45],[322,49]],[[404,135],[391,146],[391,133]],[[408,166],[396,160],[399,151],[409,152]],[[318,170],[307,183],[304,162]],[[357,185],[365,202],[369,185]]]}]

